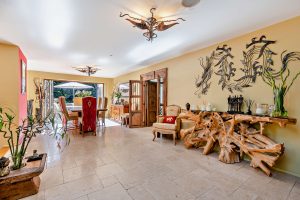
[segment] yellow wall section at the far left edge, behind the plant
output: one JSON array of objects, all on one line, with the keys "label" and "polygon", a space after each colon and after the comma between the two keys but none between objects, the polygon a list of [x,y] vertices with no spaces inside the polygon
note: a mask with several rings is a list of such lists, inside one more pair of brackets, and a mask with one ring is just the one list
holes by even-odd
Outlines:
[{"label": "yellow wall section at the far left edge, behind the plant", "polygon": [[[14,45],[0,43],[0,106],[9,107],[19,121],[19,48]],[[0,135],[0,147],[7,146]]]}]

